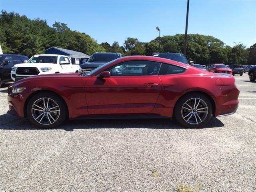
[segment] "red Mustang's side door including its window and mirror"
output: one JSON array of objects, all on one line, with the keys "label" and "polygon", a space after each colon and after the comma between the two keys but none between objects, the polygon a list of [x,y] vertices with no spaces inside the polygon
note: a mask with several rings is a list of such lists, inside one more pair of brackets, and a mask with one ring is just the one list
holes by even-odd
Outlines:
[{"label": "red Mustang's side door including its window and mirror", "polygon": [[88,113],[150,113],[162,88],[159,67],[158,62],[134,60],[108,69],[108,78],[93,76],[85,88]]}]

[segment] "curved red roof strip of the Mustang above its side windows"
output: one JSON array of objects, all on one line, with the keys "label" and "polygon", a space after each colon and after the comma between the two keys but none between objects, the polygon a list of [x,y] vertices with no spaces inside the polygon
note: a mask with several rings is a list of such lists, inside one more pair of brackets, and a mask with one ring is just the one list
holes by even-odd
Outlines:
[{"label": "curved red roof strip of the Mustang above its side windows", "polygon": [[188,64],[184,64],[182,62],[178,62],[178,61],[174,61],[174,60],[170,60],[170,59],[166,59],[166,58],[162,58],[162,57],[152,57],[152,56],[125,56],[125,57],[120,57],[117,58],[119,61],[129,61],[129,60],[150,60],[150,61],[156,61],[156,62],[162,62],[162,63],[167,63],[167,64],[175,64],[175,65],[179,65],[182,67],[188,67]]}]

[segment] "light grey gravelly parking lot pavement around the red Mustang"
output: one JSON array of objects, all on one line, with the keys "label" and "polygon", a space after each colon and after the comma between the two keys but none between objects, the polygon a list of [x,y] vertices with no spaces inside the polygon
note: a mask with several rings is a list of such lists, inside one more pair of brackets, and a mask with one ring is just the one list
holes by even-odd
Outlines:
[{"label": "light grey gravelly parking lot pavement around the red Mustang", "polygon": [[0,89],[1,192],[256,191],[256,82],[236,76],[236,114],[203,129],[169,120],[69,121],[42,130],[6,114]]}]

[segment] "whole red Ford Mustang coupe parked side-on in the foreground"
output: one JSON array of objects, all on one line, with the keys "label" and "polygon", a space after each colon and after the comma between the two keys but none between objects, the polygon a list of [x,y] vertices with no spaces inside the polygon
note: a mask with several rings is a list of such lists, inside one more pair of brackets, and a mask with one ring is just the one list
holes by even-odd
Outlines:
[{"label": "whole red Ford Mustang coupe parked side-on in the foreground", "polygon": [[40,128],[66,118],[172,118],[189,128],[233,114],[239,90],[230,74],[213,74],[150,56],[118,58],[87,74],[50,74],[8,87],[8,113]]}]

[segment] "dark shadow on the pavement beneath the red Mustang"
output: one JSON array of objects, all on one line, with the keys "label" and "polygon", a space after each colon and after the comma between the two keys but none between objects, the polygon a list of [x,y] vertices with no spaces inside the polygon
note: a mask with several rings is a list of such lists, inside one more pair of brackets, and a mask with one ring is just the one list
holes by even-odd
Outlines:
[{"label": "dark shadow on the pavement beneath the red Mustang", "polygon": [[[215,117],[212,117],[203,128],[224,127],[224,124]],[[74,129],[103,129],[103,128],[146,128],[146,129],[186,129],[175,120],[169,119],[98,119],[98,120],[67,120],[58,128],[66,131]],[[27,118],[20,118],[9,114],[0,116],[0,129],[2,130],[44,130],[38,128],[28,121]]]}]

